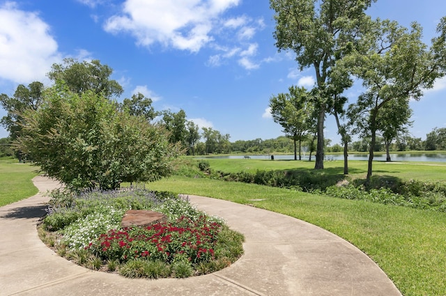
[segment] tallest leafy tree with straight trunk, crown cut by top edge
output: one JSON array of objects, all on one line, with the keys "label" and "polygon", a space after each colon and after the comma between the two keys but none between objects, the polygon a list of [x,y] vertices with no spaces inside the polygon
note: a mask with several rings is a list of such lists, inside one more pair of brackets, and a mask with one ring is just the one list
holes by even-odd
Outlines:
[{"label": "tallest leafy tree with straight trunk, crown cut by top edge", "polygon": [[314,68],[320,91],[315,169],[323,169],[324,121],[332,95],[325,91],[332,67],[357,45],[362,26],[369,17],[364,11],[374,0],[270,0],[275,10],[274,37],[280,50],[295,53],[300,70]]}]

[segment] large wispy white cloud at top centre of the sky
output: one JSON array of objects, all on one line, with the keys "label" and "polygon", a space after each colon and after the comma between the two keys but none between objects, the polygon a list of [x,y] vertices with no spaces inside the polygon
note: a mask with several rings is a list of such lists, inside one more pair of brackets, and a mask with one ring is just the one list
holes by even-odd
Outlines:
[{"label": "large wispy white cloud at top centre of the sky", "polygon": [[131,33],[137,44],[154,43],[198,52],[214,38],[211,31],[218,18],[240,0],[127,0],[121,15],[107,20],[110,33]]}]

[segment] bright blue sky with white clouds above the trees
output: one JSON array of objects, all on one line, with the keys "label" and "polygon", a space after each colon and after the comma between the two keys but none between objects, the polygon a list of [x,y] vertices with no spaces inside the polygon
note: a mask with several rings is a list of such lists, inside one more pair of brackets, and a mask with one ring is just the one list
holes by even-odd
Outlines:
[{"label": "bright blue sky with white clouds above the trees", "polygon": [[[378,0],[369,14],[417,21],[430,44],[446,1]],[[139,91],[156,110],[183,109],[230,141],[276,138],[283,133],[268,113],[270,97],[291,85],[312,88],[314,70],[300,72],[292,53],[277,52],[272,16],[267,0],[0,0],[0,93],[48,84],[45,74],[63,58],[98,59],[114,69],[121,100]],[[360,92],[346,95],[353,101]],[[413,137],[446,127],[446,79],[411,104]],[[325,137],[339,142],[332,116]]]}]

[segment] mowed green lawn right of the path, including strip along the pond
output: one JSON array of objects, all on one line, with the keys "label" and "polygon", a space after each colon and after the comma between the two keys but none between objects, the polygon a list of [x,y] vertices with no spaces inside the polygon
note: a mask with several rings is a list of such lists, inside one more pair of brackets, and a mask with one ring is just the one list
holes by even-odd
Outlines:
[{"label": "mowed green lawn right of the path, including strip along the pond", "polygon": [[[211,168],[217,169],[214,160],[221,162],[222,159],[210,159]],[[221,170],[229,171],[229,168],[234,169],[236,166],[238,169],[243,166],[248,170],[257,169],[253,165],[257,159],[235,160],[227,162],[225,166],[220,163]],[[263,165],[264,169],[286,169],[291,163],[269,162],[270,165]],[[257,166],[261,164],[260,161]],[[339,164],[342,169],[342,163]],[[337,168],[335,162],[325,164],[326,168],[330,166]],[[420,173],[417,179],[445,180],[445,166],[378,163],[376,167],[381,171],[377,173],[379,175],[415,178]],[[417,169],[419,167],[422,169]],[[310,168],[312,166],[307,167]],[[352,164],[352,168],[362,174],[367,164]],[[431,173],[427,168],[433,168],[435,172]],[[415,172],[411,171],[413,169]],[[308,221],[343,237],[364,251],[394,281],[403,295],[446,295],[445,213],[203,178],[173,176],[149,183],[148,187],[255,205]]]}]

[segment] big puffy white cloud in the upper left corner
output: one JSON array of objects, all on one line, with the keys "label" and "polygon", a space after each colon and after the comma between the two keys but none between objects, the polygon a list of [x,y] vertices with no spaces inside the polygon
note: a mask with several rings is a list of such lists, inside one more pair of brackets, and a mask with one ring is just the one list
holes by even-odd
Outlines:
[{"label": "big puffy white cloud in the upper left corner", "polygon": [[45,81],[53,63],[61,62],[56,40],[37,13],[0,6],[0,78],[15,83]]}]

